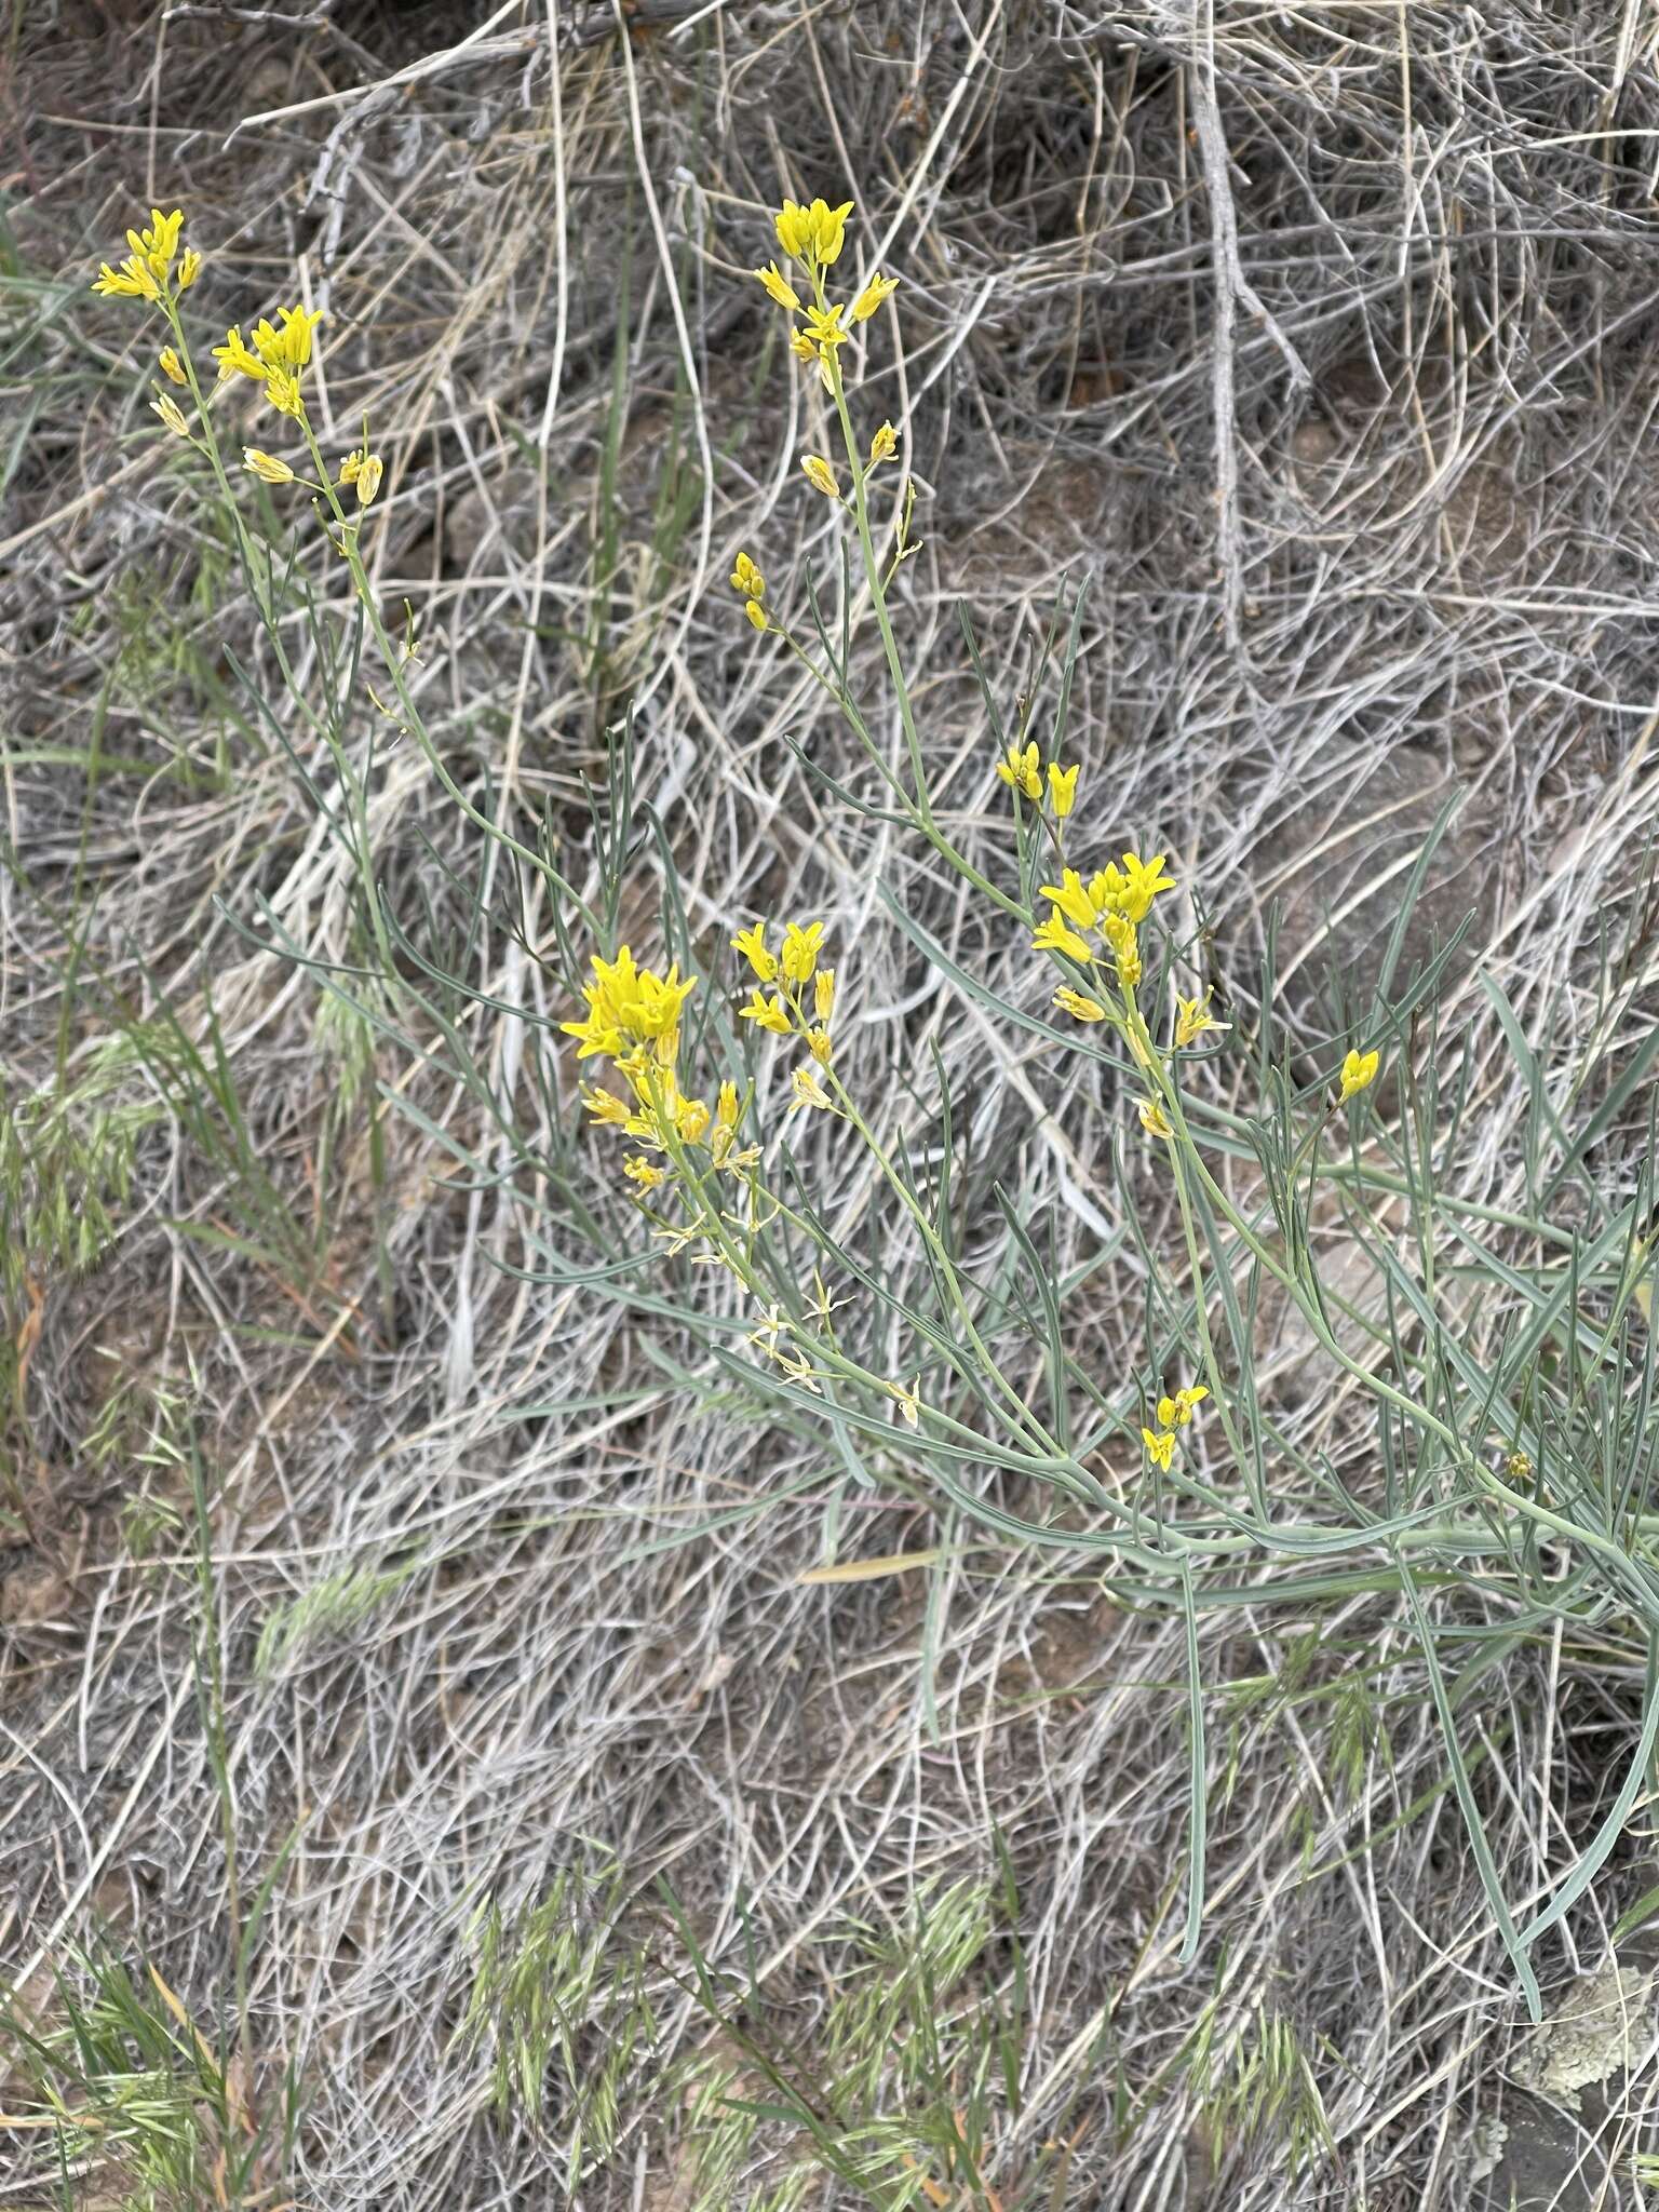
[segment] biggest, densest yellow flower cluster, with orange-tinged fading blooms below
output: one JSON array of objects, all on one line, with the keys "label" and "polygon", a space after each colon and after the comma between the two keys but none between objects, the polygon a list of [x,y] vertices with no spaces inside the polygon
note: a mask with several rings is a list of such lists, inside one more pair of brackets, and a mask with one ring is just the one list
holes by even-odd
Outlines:
[{"label": "biggest, densest yellow flower cluster, with orange-tinged fading blooms below", "polygon": [[657,975],[641,969],[624,945],[615,960],[595,953],[593,982],[582,987],[588,1011],[580,1022],[560,1024],[566,1037],[577,1040],[577,1060],[611,1060],[633,1093],[624,1099],[595,1084],[584,1104],[599,1128],[617,1128],[644,1146],[622,1164],[641,1192],[668,1181],[670,1168],[657,1166],[650,1155],[666,1155],[672,1146],[703,1146],[717,1168],[754,1159],[754,1152],[734,1150],[743,1119],[734,1084],[721,1084],[712,1113],[679,1086],[679,1015],[695,989],[697,978],[681,980],[679,962]]}]

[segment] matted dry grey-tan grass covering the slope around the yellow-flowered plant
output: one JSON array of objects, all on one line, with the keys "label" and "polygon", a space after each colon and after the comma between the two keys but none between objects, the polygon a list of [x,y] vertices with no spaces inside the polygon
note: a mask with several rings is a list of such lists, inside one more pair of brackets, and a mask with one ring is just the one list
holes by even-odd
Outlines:
[{"label": "matted dry grey-tan grass covering the slope around the yellow-flowered plant", "polygon": [[[86,2053],[108,2079],[148,2035],[168,2110],[232,2146],[234,2194],[215,2150],[150,2172],[159,2203],[551,2199],[582,2099],[498,2108],[489,2042],[460,2037],[467,1931],[608,1856],[653,2035],[586,2205],[688,2212],[712,2124],[675,2068],[728,2064],[761,2097],[741,2033],[821,2086],[849,1922],[902,1929],[927,1885],[995,1891],[998,1836],[1020,2097],[987,2093],[984,2183],[951,2203],[1482,2203],[1471,2130],[1515,2119],[1522,2015],[1396,1595],[1356,1590],[1316,1632],[1285,1606],[1203,1617],[1210,1882],[1179,1964],[1181,1624],[1104,1590],[1082,1546],[991,1542],[916,1484],[849,1486],[810,1427],[688,1398],[672,1316],[560,1281],[577,1234],[533,1241],[509,1148],[495,1177],[447,1148],[498,1139],[436,1033],[405,1053],[272,956],[276,933],[319,967],[361,956],[354,856],[307,794],[327,754],[250,706],[272,648],[139,436],[148,358],[88,263],[157,197],[190,208],[217,321],[299,270],[327,312],[327,442],[367,409],[387,451],[374,573],[411,608],[456,781],[520,834],[546,823],[582,876],[584,785],[630,708],[692,942],[825,914],[860,1095],[927,1141],[938,1051],[969,1188],[1000,1183],[1060,1267],[1108,1252],[1091,1349],[1113,1376],[1146,1327],[1124,1099],[1102,1071],[1066,1088],[916,960],[880,883],[964,969],[1037,984],[993,918],[834,805],[814,772],[845,772],[845,734],[734,622],[739,546],[796,604],[832,560],[796,480],[816,400],[745,276],[765,208],[845,179],[858,263],[905,279],[880,389],[922,487],[907,653],[962,836],[993,832],[995,792],[956,602],[1009,697],[1066,575],[1091,580],[1073,732],[1102,836],[1183,858],[1241,1029],[1274,900],[1305,1040],[1327,969],[1369,993],[1455,796],[1413,949],[1473,909],[1444,1015],[1473,1102],[1455,1177],[1524,1210],[1548,1110],[1608,1097],[1655,1018],[1657,33],[1635,4],[15,0],[0,1066],[33,1166],[7,1199],[0,1955],[44,2035],[51,1969],[104,1989],[82,2075],[60,2051],[75,2112]],[[288,650],[330,699],[316,635],[294,615]],[[387,909],[495,1002],[458,1020],[557,1179],[568,1093],[533,1095],[522,1057],[522,1015],[566,1011],[555,918],[511,911],[361,697],[332,734],[374,759]],[[1646,1115],[1637,1088],[1597,1130],[1601,1192],[1639,1188]],[[876,1192],[827,1139],[814,1157],[854,1239]],[[1279,1316],[1261,1378],[1305,1451],[1363,1467],[1352,1398]],[[927,1564],[814,1575],[900,1553]],[[1644,1635],[1478,1599],[1471,1626],[1493,1635],[1453,1690],[1520,1909],[1619,1787]],[[1601,1964],[1646,1849],[1639,1818],[1548,1984]],[[148,2028],[77,1947],[142,1962]],[[745,1993],[723,2028],[692,1951]],[[148,1966],[226,2033],[217,2070]],[[958,2011],[1009,1975],[984,1933]],[[38,2119],[44,2064],[18,2044],[0,2108]],[[1644,2066],[1613,2097],[1606,2192],[1562,2203],[1639,2201]],[[1498,2181],[1546,2203],[1575,2137],[1528,2126],[1544,2148]],[[108,2128],[73,2139],[69,2179],[51,2139],[0,2135],[0,2201],[144,2201]],[[732,2203],[783,2170],[759,2141],[739,2163]]]}]

